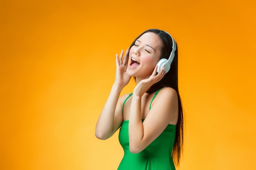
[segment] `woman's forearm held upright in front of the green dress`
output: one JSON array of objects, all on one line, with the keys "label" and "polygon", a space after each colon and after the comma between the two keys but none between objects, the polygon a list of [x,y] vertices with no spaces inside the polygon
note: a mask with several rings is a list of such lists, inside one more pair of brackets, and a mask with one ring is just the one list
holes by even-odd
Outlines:
[{"label": "woman's forearm held upright in front of the green dress", "polygon": [[129,118],[130,151],[137,153],[141,150],[141,141],[144,136],[144,127],[141,121],[141,97],[132,96]]}]

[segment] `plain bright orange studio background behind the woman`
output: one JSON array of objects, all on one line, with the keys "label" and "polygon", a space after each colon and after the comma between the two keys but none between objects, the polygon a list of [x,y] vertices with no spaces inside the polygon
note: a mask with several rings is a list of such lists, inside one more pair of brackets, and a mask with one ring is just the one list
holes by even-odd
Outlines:
[{"label": "plain bright orange studio background behind the woman", "polygon": [[179,47],[180,169],[256,169],[255,9],[254,0],[1,0],[0,169],[117,169],[118,133],[101,141],[94,128],[115,54],[149,28]]}]

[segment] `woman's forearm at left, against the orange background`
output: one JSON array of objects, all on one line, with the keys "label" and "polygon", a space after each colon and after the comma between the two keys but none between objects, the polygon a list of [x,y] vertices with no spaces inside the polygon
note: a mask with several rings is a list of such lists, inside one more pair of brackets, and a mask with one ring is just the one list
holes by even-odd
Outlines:
[{"label": "woman's forearm at left, against the orange background", "polygon": [[111,88],[96,125],[95,135],[99,139],[108,139],[113,134],[115,109],[122,89],[117,84],[113,84]]}]

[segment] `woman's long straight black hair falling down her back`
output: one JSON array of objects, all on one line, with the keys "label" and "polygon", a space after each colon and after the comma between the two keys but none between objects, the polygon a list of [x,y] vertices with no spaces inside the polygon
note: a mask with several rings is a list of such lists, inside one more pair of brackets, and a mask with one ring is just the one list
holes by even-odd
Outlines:
[{"label": "woman's long straight black hair falling down her back", "polygon": [[[161,38],[163,42],[163,46],[161,50],[160,59],[162,58],[168,59],[170,57],[171,51],[173,50],[172,49],[173,42],[170,35],[168,35],[168,33],[159,29],[148,29],[144,31],[132,42],[130,48],[135,44],[136,40],[141,37],[141,35],[147,32],[153,32],[157,34],[159,38]],[[130,51],[130,48],[129,48],[129,51]],[[127,55],[129,56],[129,53]],[[183,109],[182,109],[182,103],[180,99],[180,93],[178,89],[178,49],[177,48],[175,51],[173,62],[171,63],[170,70],[168,71],[168,73],[164,75],[164,77],[159,82],[151,86],[150,89],[147,91],[147,93],[150,93],[150,94],[154,93],[155,91],[163,87],[171,87],[175,89],[178,96],[178,120],[176,125],[175,141],[174,141],[173,151],[172,151],[172,157],[173,157],[174,163],[176,166],[178,166],[180,164],[180,157],[183,151],[184,118],[183,118]]]}]

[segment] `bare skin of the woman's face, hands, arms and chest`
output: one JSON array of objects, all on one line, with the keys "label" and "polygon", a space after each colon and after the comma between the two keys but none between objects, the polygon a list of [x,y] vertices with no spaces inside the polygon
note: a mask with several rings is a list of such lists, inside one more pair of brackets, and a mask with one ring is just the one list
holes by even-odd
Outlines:
[{"label": "bare skin of the woman's face, hands, arms and chest", "polygon": [[[146,91],[164,77],[164,68],[157,74],[157,62],[161,54],[162,40],[157,34],[148,32],[142,35],[135,45],[124,55],[116,55],[115,83],[98,119],[95,135],[99,139],[108,139],[129,120],[130,152],[139,153],[152,143],[168,124],[177,124],[178,98],[173,88],[162,88],[152,102],[154,93]],[[132,67],[131,58],[140,64]],[[128,94],[119,98],[121,90],[128,84],[131,77],[136,77],[137,86],[126,101],[124,115],[122,105]],[[142,122],[141,119],[144,119]]]}]

